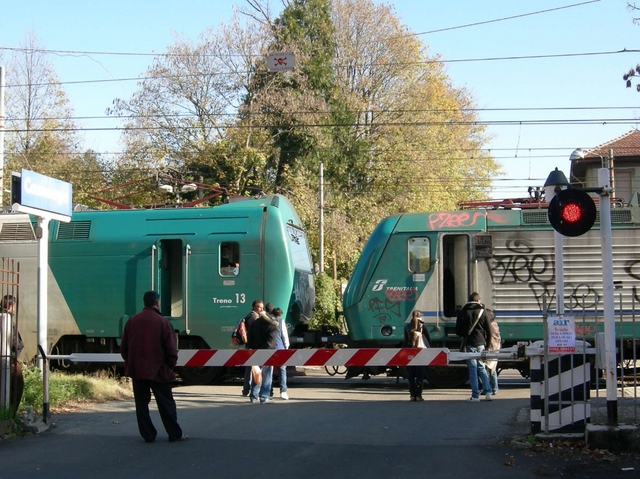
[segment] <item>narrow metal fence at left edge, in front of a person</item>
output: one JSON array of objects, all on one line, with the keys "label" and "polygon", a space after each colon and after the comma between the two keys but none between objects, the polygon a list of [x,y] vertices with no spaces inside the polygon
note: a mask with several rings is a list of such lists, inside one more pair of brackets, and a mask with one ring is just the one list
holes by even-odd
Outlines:
[{"label": "narrow metal fence at left edge, in front of a person", "polygon": [[[5,310],[5,298],[19,298],[20,263],[1,258],[0,264],[0,420],[11,419],[16,411],[12,399],[19,389],[17,384],[18,308],[12,314]],[[13,393],[12,393],[13,391]]]}]

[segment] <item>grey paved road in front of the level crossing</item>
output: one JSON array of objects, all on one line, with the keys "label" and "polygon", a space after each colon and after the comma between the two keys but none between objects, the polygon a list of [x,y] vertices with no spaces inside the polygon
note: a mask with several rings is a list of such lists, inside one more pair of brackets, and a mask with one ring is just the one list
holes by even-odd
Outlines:
[{"label": "grey paved road in front of the level crossing", "polygon": [[[0,442],[3,478],[411,478],[603,477],[603,466],[529,457],[502,444],[526,435],[528,389],[507,378],[492,402],[466,403],[466,389],[425,391],[408,401],[406,382],[344,380],[323,371],[290,380],[290,401],[251,404],[241,385],[175,389],[191,436],[169,443],[138,435],[132,400],[52,418],[55,428]],[[514,466],[506,466],[513,457]],[[634,477],[624,464],[607,477]],[[626,474],[626,475],[625,475]],[[637,476],[635,476],[637,477]]]}]

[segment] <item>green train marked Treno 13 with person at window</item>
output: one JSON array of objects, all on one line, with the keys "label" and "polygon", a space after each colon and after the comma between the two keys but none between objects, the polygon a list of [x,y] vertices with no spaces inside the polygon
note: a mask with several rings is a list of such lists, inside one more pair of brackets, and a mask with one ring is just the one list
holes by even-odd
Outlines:
[{"label": "green train marked Treno 13 with person at window", "polygon": [[[37,351],[34,219],[0,215],[0,257],[20,262],[23,357]],[[231,332],[254,299],[286,311],[291,330],[308,324],[315,301],[305,230],[280,195],[230,198],[210,208],[77,211],[50,224],[48,344],[53,354],[117,353],[127,318],[145,291],[160,293],[180,349],[233,347]],[[62,363],[84,368],[86,363]],[[182,368],[208,383],[219,368]]]}]

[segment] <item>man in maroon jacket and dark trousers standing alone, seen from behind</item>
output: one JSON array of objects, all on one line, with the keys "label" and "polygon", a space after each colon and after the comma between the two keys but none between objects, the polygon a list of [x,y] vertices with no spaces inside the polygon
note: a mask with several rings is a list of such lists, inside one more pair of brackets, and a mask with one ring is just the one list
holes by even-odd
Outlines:
[{"label": "man in maroon jacket and dark trousers standing alone, seen from behind", "polygon": [[144,309],[129,318],[120,344],[125,375],[133,382],[138,429],[145,441],[155,441],[158,431],[149,415],[153,392],[169,441],[186,441],[189,436],[182,434],[171,391],[173,368],[178,361],[175,333],[171,323],[160,314],[158,293],[147,291],[143,300]]}]

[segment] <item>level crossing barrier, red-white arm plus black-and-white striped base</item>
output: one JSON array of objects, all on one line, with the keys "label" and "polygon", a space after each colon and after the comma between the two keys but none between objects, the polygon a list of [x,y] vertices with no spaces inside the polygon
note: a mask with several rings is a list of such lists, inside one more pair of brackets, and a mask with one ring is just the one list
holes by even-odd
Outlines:
[{"label": "level crossing barrier, red-white arm plus black-and-white striped base", "polygon": [[[447,366],[467,359],[525,359],[531,361],[531,431],[565,432],[589,422],[589,362],[586,352],[548,355],[544,344],[521,343],[498,351],[466,353],[448,348],[321,348],[321,349],[183,349],[179,367],[242,366]],[[122,363],[120,354],[73,353],[49,355],[52,360]],[[548,378],[548,379],[546,379]]]}]

